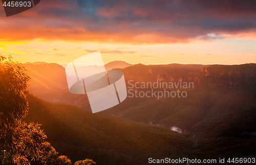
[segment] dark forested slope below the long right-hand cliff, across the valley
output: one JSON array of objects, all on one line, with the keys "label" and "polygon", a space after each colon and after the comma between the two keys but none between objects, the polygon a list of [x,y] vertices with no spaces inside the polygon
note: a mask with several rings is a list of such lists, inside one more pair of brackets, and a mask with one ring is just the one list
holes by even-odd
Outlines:
[{"label": "dark forested slope below the long right-hand cliff, across the valley", "polygon": [[188,91],[187,98],[155,99],[121,112],[103,113],[167,128],[176,126],[206,137],[241,137],[256,131],[255,93],[254,84],[200,88]]}]

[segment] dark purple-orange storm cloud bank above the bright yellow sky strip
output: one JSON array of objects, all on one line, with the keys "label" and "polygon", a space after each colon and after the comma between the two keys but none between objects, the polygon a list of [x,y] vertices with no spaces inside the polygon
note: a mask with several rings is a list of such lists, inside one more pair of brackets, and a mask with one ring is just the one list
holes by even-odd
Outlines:
[{"label": "dark purple-orange storm cloud bank above the bright yellow sky strip", "polygon": [[177,43],[255,34],[256,1],[46,0],[0,20],[6,39]]}]

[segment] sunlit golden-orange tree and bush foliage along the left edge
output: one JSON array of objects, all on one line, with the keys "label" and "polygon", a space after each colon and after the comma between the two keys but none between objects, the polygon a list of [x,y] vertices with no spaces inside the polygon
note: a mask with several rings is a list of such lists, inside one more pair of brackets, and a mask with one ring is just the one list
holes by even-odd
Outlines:
[{"label": "sunlit golden-orange tree and bush foliage along the left edge", "polygon": [[66,156],[57,157],[58,152],[45,142],[39,124],[23,122],[29,80],[24,66],[12,62],[11,56],[0,56],[0,164],[70,165]]}]

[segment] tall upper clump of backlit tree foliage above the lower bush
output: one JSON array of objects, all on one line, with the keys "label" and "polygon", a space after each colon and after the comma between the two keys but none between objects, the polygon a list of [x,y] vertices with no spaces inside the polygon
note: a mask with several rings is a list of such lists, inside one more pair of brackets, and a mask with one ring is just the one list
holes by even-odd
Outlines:
[{"label": "tall upper clump of backlit tree foliage above the lower bush", "polygon": [[[5,63],[3,60],[8,59]],[[0,126],[16,126],[28,113],[26,100],[30,77],[19,63],[12,62],[12,57],[0,57]]]}]

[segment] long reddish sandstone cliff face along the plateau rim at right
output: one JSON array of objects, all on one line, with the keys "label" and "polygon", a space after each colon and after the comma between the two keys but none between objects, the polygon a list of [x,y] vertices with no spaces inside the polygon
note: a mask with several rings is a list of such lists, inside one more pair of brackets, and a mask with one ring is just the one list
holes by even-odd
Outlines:
[{"label": "long reddish sandstone cliff face along the plateau rim at right", "polygon": [[199,86],[225,86],[256,82],[256,64],[242,65],[143,65],[120,69],[126,81],[194,82]]}]

